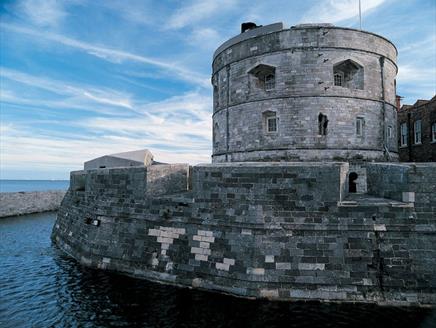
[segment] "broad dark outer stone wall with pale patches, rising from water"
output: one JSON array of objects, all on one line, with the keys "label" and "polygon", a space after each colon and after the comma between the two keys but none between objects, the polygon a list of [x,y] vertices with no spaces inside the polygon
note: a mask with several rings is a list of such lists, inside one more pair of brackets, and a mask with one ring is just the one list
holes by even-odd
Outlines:
[{"label": "broad dark outer stone wall with pale patches, rising from water", "polygon": [[[368,190],[403,167],[368,166]],[[349,201],[348,170],[347,163],[201,165],[192,168],[192,190],[159,197],[141,182],[145,170],[91,172],[86,191],[68,191],[52,238],[85,265],[180,286],[435,305],[434,187],[415,203]],[[418,193],[433,179],[432,166],[408,170],[409,184],[397,192]]]}]

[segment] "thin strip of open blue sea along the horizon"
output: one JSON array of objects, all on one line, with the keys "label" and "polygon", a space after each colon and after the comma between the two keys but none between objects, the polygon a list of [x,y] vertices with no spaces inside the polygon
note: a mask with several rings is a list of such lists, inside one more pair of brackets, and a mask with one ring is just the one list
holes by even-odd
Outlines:
[{"label": "thin strip of open blue sea along the horizon", "polygon": [[67,190],[69,185],[69,180],[0,179],[0,192]]}]

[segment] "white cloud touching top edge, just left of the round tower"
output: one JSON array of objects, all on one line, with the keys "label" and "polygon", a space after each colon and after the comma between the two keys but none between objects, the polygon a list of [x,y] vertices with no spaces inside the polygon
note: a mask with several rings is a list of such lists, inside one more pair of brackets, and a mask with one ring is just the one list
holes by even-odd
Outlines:
[{"label": "white cloud touching top edge, just left of the round tower", "polygon": [[237,0],[194,0],[190,1],[176,10],[169,18],[166,27],[170,29],[179,29],[186,26],[194,25],[200,21],[207,20],[213,15],[223,13],[223,10],[232,8]]}]

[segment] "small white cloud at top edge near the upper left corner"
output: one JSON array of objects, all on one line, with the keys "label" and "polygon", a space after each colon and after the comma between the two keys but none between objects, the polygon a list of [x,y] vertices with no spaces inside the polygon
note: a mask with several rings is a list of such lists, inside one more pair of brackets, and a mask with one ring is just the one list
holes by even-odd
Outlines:
[{"label": "small white cloud at top edge near the upper left corner", "polygon": [[58,0],[22,0],[18,10],[39,26],[57,26],[67,15],[63,2]]}]

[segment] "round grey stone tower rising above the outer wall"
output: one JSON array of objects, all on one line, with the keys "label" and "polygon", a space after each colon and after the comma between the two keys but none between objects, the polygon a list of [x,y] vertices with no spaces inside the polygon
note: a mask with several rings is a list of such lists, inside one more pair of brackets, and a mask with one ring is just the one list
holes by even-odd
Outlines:
[{"label": "round grey stone tower rising above the outer wall", "polygon": [[213,162],[396,161],[396,57],[370,32],[244,23],[213,56]]}]

